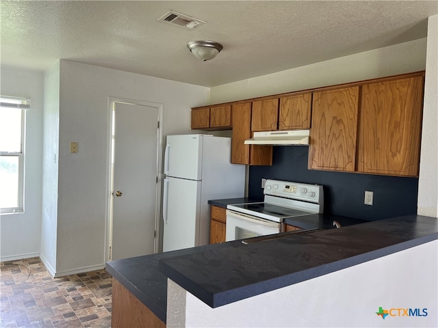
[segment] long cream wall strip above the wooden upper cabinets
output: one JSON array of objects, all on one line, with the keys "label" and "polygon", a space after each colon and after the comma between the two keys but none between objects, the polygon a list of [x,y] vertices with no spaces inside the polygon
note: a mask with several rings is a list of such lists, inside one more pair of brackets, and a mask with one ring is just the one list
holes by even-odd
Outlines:
[{"label": "long cream wall strip above the wooden upper cabinets", "polygon": [[387,77],[425,68],[426,38],[211,87],[210,103]]}]

